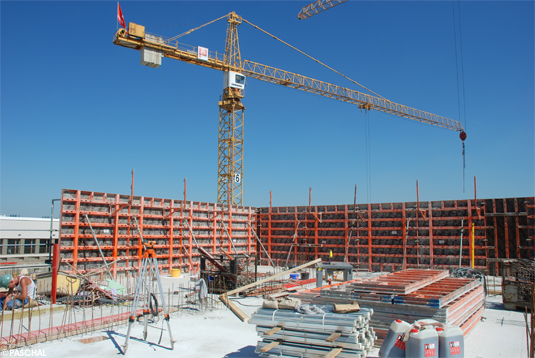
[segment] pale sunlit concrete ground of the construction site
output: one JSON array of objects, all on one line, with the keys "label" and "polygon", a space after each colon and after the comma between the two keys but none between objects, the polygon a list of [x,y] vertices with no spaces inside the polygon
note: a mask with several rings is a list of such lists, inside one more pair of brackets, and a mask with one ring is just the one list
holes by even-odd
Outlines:
[{"label": "pale sunlit concrete ground of the construction site", "polygon": [[[192,280],[187,275],[180,278],[172,278],[168,274],[162,274],[164,291],[171,292],[177,287],[191,287]],[[496,290],[497,291],[497,290]],[[233,298],[233,301],[247,315],[251,316],[261,306],[262,297]],[[46,306],[43,309],[47,309]],[[48,307],[49,309],[49,307]],[[95,308],[88,313],[82,314],[81,310],[74,310],[66,315],[59,310],[52,316],[42,315],[37,323],[32,319],[29,330],[34,331],[39,327],[49,327],[49,317],[52,317],[53,326],[61,323],[69,323],[72,320],[82,322],[91,319],[90,315],[119,314],[128,312],[128,307]],[[73,317],[75,315],[76,317]],[[501,295],[487,297],[484,319],[465,337],[465,357],[527,357],[527,336],[525,317],[522,311],[504,310]],[[529,320],[529,316],[528,316]],[[62,322],[63,321],[63,322]],[[67,322],[68,321],[68,322]],[[4,322],[7,322],[4,320]],[[171,314],[170,319],[172,335],[175,342],[174,350],[171,350],[169,335],[163,321],[151,323],[148,328],[148,336],[143,340],[143,326],[135,322],[132,327],[129,348],[126,356],[129,357],[203,357],[203,358],[245,358],[259,357],[255,353],[256,343],[259,337],[255,326],[238,319],[234,313],[223,306],[217,296],[212,296],[204,309],[198,309],[191,305],[186,309]],[[28,330],[27,324],[23,325]],[[3,336],[6,335],[6,325],[3,327]],[[15,330],[15,332],[18,332]],[[48,357],[110,357],[122,355],[122,345],[127,332],[127,322],[117,322],[112,327],[88,333],[78,334],[58,340],[34,344],[21,349],[34,350],[34,354]],[[8,351],[9,352],[9,351]],[[370,357],[377,357],[379,349],[372,351]],[[20,353],[18,353],[20,355]],[[16,356],[12,351],[4,356]]]}]

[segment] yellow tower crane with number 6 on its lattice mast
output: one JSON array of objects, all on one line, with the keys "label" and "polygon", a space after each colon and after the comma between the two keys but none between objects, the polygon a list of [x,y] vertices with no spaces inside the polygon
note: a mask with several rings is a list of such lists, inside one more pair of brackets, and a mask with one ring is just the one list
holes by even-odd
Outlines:
[{"label": "yellow tower crane with number 6 on its lattice mast", "polygon": [[218,103],[218,204],[243,205],[243,112],[245,106],[241,100],[244,97],[243,89],[246,76],[355,104],[366,111],[378,110],[458,131],[461,132],[460,136],[464,143],[466,134],[459,121],[258,62],[242,60],[238,41],[238,25],[243,21],[251,24],[250,22],[235,12],[230,12],[198,28],[225,17],[227,19],[227,36],[224,53],[208,51],[200,46],[181,44],[177,41],[181,35],[174,38],[152,35],[145,32],[144,26],[134,23],[129,23],[128,31],[123,28],[117,30],[113,39],[115,45],[139,50],[143,65],[159,67],[161,59],[167,57],[224,72],[223,96]]}]

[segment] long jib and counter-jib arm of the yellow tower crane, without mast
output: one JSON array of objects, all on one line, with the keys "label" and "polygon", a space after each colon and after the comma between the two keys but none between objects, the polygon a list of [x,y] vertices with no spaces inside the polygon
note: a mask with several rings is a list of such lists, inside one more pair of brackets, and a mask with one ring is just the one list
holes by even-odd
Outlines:
[{"label": "long jib and counter-jib arm of the yellow tower crane, without mast", "polygon": [[118,46],[127,47],[134,50],[143,50],[144,48],[152,49],[160,52],[163,57],[192,63],[219,71],[241,72],[250,78],[255,78],[258,80],[295,88],[301,91],[315,93],[343,102],[356,104],[365,110],[374,109],[458,132],[464,130],[459,121],[404,106],[384,98],[379,98],[249,60],[243,61],[241,68],[237,66],[230,66],[225,61],[222,53],[210,52],[208,56],[202,59],[199,57],[197,48],[194,46],[182,45],[179,47],[179,44],[176,41],[175,45],[172,46],[169,43],[162,41],[161,37],[151,36],[148,38],[152,39],[152,41],[148,40],[147,38],[131,36],[126,32],[126,30],[119,29],[115,34],[113,42]]}]

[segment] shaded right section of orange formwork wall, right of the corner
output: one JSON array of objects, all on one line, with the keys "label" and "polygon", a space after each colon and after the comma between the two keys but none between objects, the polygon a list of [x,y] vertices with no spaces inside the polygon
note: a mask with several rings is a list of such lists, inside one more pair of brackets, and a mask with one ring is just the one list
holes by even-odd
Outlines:
[{"label": "shaded right section of orange formwork wall, right of the corner", "polygon": [[[496,274],[498,258],[534,258],[534,198],[268,207],[257,231],[271,258],[322,258],[369,271],[459,266]],[[462,224],[462,226],[461,226]],[[473,240],[472,240],[473,238]],[[264,257],[264,256],[262,256]],[[494,260],[493,260],[494,259]],[[267,260],[263,260],[266,262]]]}]

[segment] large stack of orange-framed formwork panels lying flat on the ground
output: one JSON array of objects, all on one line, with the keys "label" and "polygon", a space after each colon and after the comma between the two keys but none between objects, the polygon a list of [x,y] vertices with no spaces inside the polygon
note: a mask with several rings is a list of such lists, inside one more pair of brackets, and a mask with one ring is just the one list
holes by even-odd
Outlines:
[{"label": "large stack of orange-framed formwork panels lying flat on the ground", "polygon": [[434,319],[459,326],[467,334],[481,319],[485,292],[476,279],[448,275],[448,271],[441,270],[405,270],[294,296],[316,305],[357,301],[361,307],[373,309],[370,325],[377,343],[382,342],[395,319],[410,323]]}]

